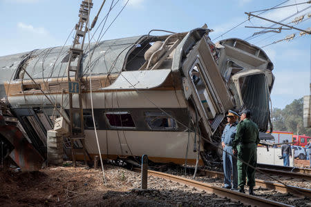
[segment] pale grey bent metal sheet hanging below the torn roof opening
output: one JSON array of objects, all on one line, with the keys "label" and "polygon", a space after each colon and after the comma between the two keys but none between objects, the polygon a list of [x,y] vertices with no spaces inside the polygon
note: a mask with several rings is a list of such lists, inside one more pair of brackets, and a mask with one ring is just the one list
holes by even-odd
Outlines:
[{"label": "pale grey bent metal sheet hanging below the torn roof opening", "polygon": [[133,90],[149,89],[160,86],[171,69],[162,70],[136,70],[131,72],[121,72],[115,82],[102,90]]}]

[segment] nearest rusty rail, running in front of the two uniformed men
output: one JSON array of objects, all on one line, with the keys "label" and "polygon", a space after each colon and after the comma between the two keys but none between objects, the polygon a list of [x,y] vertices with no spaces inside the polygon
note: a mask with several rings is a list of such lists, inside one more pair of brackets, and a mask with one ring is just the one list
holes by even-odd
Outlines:
[{"label": "nearest rusty rail, running in front of the two uniformed men", "polygon": [[[135,168],[135,171],[139,171],[140,169]],[[268,199],[263,199],[261,197],[256,197],[253,195],[248,195],[245,193],[239,193],[234,190],[229,190],[225,188],[220,188],[217,186],[212,186],[211,184],[205,184],[200,181],[195,181],[192,179],[187,179],[184,177],[179,177],[176,175],[170,175],[164,172],[157,172],[153,170],[148,170],[148,175],[154,176],[154,177],[160,177],[163,179],[176,181],[180,184],[186,184],[189,186],[193,186],[194,188],[198,188],[201,190],[205,190],[208,193],[215,193],[219,197],[227,197],[229,199],[235,200],[235,201],[241,201],[244,205],[251,205],[251,206],[290,206],[288,204],[283,204],[277,201],[272,201]]]}]

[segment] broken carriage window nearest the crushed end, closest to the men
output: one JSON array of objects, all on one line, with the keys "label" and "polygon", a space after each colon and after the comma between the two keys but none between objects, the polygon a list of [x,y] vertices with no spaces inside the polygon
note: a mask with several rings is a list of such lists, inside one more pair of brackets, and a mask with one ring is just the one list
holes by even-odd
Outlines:
[{"label": "broken carriage window nearest the crushed end, closest to the men", "polygon": [[146,112],[146,121],[149,128],[153,130],[176,129],[175,119],[164,114],[164,112]]}]

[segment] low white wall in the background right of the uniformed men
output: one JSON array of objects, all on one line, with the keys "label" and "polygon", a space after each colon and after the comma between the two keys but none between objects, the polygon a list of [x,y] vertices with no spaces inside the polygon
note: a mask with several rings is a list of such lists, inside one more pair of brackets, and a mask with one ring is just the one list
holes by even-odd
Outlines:
[{"label": "low white wall in the background right of the uniformed men", "polygon": [[[279,156],[281,156],[281,148],[269,148],[268,152],[265,147],[257,148],[257,163],[283,166],[283,159],[279,159]],[[294,166],[294,156],[290,158],[290,166]]]}]

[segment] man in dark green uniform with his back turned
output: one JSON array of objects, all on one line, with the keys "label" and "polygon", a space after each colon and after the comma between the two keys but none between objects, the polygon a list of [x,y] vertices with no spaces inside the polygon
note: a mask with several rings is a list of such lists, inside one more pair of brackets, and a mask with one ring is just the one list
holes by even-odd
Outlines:
[{"label": "man in dark green uniform with his back turned", "polygon": [[[238,152],[238,186],[241,193],[245,193],[245,177],[249,186],[249,195],[254,195],[255,169],[257,164],[257,145],[260,141],[258,126],[250,120],[251,112],[244,110],[241,121],[237,126],[236,137],[232,143],[232,152]],[[244,162],[243,162],[244,161]]]}]

